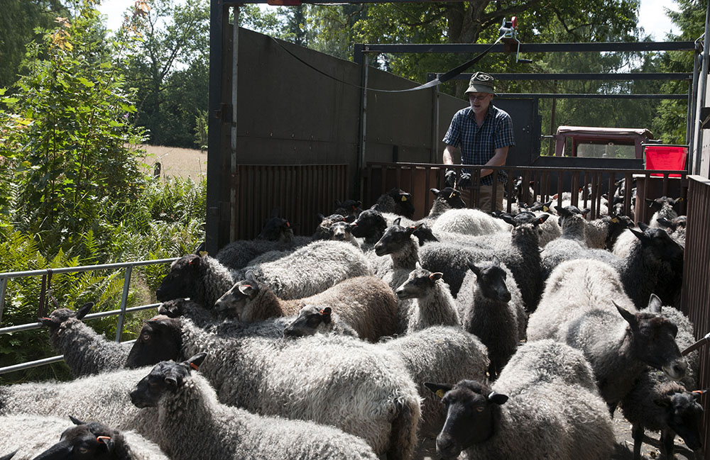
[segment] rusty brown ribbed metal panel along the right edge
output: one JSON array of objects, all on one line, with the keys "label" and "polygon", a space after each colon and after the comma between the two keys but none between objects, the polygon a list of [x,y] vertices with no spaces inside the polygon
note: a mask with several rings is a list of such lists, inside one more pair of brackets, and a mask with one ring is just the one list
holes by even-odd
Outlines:
[{"label": "rusty brown ribbed metal panel along the right edge", "polygon": [[[701,176],[689,176],[688,224],[685,234],[683,261],[682,310],[695,326],[699,339],[710,332],[710,181]],[[710,388],[710,348],[700,349],[699,388]],[[701,434],[705,456],[710,453],[709,396],[702,396],[706,408]]]}]

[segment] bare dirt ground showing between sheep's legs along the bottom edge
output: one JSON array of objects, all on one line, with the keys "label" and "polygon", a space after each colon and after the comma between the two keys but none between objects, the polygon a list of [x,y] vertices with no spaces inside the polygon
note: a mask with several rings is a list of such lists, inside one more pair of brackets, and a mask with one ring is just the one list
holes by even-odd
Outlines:
[{"label": "bare dirt ground showing between sheep's legs along the bottom edge", "polygon": [[[618,410],[613,418],[614,432],[616,432],[616,446],[611,456],[612,460],[633,460],[633,438],[631,437],[631,424]],[[641,458],[645,460],[660,458],[660,433],[646,432],[645,441],[641,446]],[[676,460],[696,460],[693,452],[689,450],[683,439],[675,437]],[[436,439],[422,439],[414,460],[437,460]]]}]

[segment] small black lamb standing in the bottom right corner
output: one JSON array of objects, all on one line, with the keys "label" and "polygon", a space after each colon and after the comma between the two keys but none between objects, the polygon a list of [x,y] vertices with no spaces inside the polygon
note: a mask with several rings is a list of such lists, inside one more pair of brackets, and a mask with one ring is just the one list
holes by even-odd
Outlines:
[{"label": "small black lamb standing in the bottom right corner", "polygon": [[[645,371],[621,401],[621,411],[633,425],[633,459],[640,460],[644,430],[661,432],[661,453],[673,458],[676,434],[693,451],[702,447],[700,423],[703,408],[698,399],[702,391],[687,391],[658,371]],[[701,458],[701,457],[700,457]]]}]

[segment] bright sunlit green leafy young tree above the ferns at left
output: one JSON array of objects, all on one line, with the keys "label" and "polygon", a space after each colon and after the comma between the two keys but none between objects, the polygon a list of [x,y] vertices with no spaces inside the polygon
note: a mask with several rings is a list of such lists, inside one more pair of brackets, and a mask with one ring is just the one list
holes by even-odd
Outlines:
[{"label": "bright sunlit green leafy young tree above the ferns at left", "polygon": [[3,100],[9,111],[0,112],[15,228],[55,250],[95,225],[104,198],[135,198],[143,177],[126,147],[143,137],[131,124],[135,108],[118,62],[125,44],[106,37],[92,1],[72,12],[72,21],[57,18],[28,47],[26,75]]}]

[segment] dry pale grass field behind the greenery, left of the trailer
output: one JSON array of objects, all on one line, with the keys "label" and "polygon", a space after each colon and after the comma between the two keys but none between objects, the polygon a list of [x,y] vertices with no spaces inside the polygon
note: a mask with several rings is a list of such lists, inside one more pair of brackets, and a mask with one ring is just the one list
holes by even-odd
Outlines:
[{"label": "dry pale grass field behind the greenery, left of the trailer", "polygon": [[146,150],[143,163],[148,171],[155,169],[160,163],[160,177],[190,177],[199,182],[207,176],[207,150],[182,149],[180,147],[164,147],[163,145],[138,145]]}]

